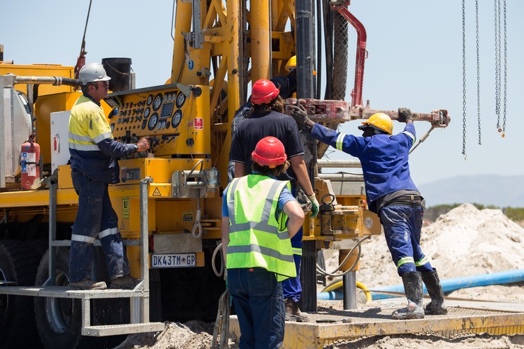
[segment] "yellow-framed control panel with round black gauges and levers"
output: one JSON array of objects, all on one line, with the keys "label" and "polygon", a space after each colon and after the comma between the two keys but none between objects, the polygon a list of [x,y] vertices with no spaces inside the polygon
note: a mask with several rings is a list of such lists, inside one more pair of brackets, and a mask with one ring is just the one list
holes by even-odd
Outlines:
[{"label": "yellow-framed control panel with round black gauges and levers", "polygon": [[105,101],[112,135],[121,142],[147,136],[155,156],[210,154],[209,87],[175,84],[120,91]]}]

